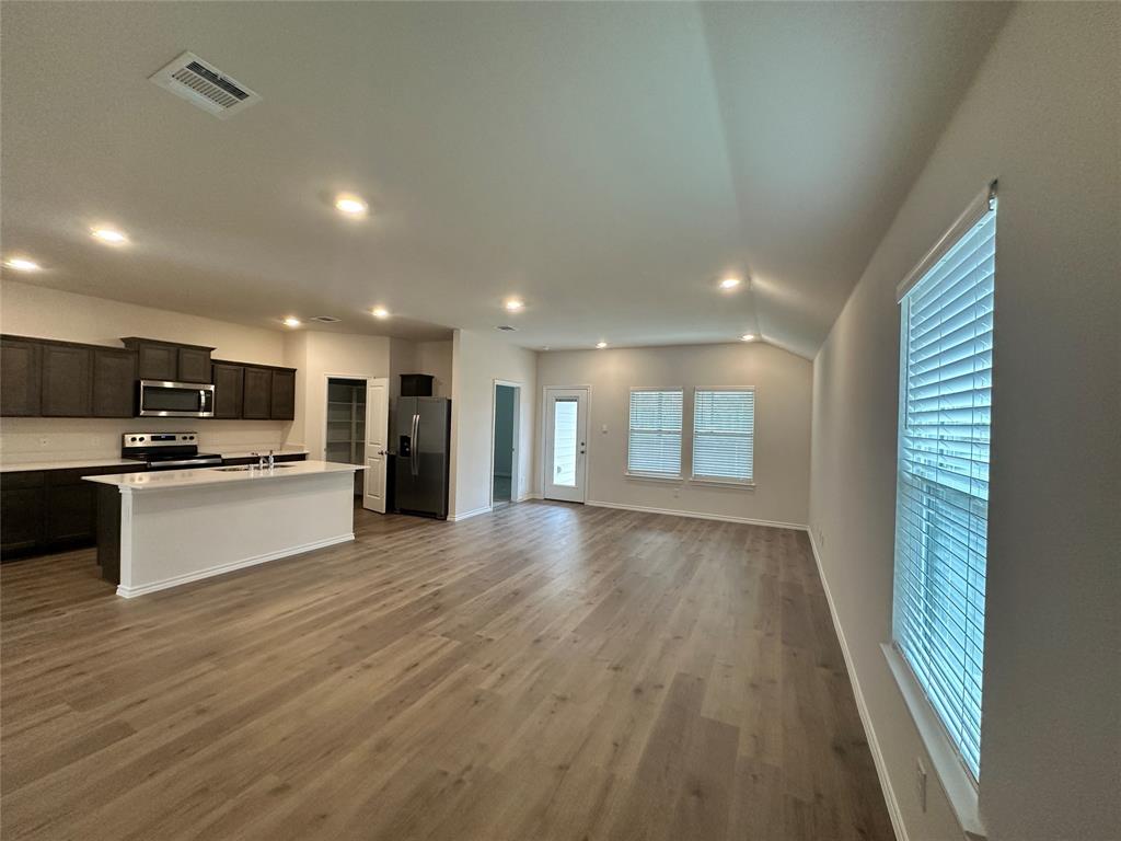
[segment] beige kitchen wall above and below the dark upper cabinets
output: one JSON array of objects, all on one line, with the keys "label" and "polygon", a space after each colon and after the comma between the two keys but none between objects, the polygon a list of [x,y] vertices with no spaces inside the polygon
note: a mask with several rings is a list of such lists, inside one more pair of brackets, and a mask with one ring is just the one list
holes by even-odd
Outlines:
[{"label": "beige kitchen wall above and below the dark upper cabinets", "polygon": [[[282,364],[279,331],[183,315],[4,280],[0,284],[0,332],[121,346],[122,336],[149,336],[214,346],[215,358]],[[297,379],[298,381],[298,379]],[[202,418],[3,418],[0,459],[8,463],[55,459],[112,459],[121,434],[141,429],[200,433],[203,451],[278,450],[289,424],[282,420]]]}]

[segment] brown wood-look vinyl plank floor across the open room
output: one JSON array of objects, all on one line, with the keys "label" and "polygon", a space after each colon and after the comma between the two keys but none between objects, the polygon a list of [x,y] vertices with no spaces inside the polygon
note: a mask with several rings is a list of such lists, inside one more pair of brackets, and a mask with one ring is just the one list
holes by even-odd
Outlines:
[{"label": "brown wood-look vinyl plank floor across the open room", "polygon": [[0,567],[0,835],[892,839],[802,533],[527,502],[119,599]]}]

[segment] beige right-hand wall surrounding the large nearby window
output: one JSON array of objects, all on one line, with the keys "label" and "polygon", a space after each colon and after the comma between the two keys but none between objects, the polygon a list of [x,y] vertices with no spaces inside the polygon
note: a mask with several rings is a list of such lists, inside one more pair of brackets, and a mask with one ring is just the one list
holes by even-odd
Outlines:
[{"label": "beige right-hand wall surrounding the large nearby window", "polygon": [[[890,638],[896,284],[1000,178],[981,810],[992,841],[1121,826],[1121,6],[1028,3],[814,366],[810,524],[907,834],[961,838],[880,644]],[[929,767],[929,763],[928,763]]]}]

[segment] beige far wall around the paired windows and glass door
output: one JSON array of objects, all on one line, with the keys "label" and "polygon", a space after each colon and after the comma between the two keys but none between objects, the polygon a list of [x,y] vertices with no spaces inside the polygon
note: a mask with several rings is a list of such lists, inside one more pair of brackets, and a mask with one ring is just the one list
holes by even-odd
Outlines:
[{"label": "beige far wall around the paired windows and glass door", "polygon": [[[589,502],[804,525],[809,506],[810,378],[807,360],[767,344],[547,352],[538,357],[535,403],[540,407],[546,387],[591,386]],[[686,473],[692,463],[692,389],[754,386],[754,488],[626,475],[630,389],[660,386],[686,392]],[[538,464],[538,493],[540,470]]]}]

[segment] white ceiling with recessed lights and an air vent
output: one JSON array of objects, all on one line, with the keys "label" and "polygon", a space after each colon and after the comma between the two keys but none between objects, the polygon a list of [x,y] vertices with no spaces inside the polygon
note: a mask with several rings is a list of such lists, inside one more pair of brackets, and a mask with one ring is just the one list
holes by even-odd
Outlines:
[{"label": "white ceiling with recessed lights and an air vent", "polygon": [[[525,346],[729,341],[753,298],[808,357],[1007,11],[6,2],[3,250],[100,297]],[[221,121],[147,81],[185,49],[263,101]]]}]

